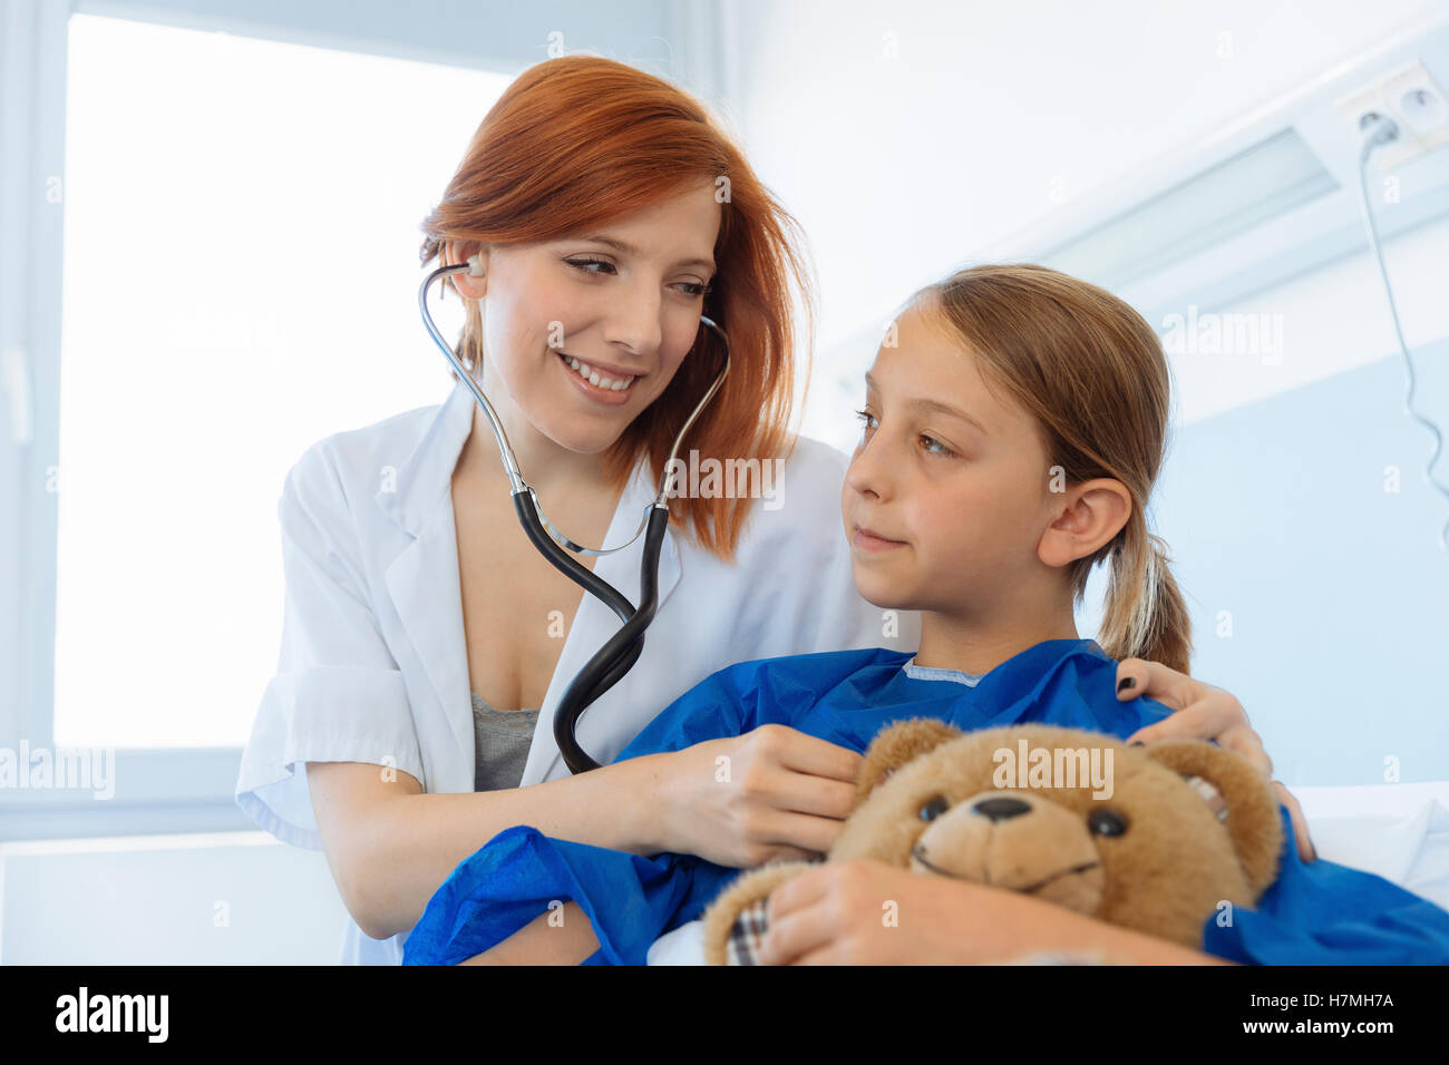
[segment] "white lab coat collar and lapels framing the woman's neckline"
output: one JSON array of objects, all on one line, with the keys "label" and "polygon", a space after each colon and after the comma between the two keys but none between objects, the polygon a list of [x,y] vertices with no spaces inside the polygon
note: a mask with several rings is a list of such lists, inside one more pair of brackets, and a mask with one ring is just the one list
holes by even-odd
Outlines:
[{"label": "white lab coat collar and lapels framing the woman's neckline", "polygon": [[[384,485],[384,490],[374,496],[377,504],[412,538],[387,567],[385,581],[403,627],[438,693],[449,729],[462,751],[462,761],[468,767],[474,765],[474,722],[462,585],[458,575],[452,474],[472,429],[474,407],[471,390],[458,381],[417,446],[398,468],[396,484]],[[648,468],[648,459],[635,467],[619,497],[604,546],[622,543],[638,529],[643,510],[656,491]],[[388,487],[396,491],[387,491]],[[630,603],[639,601],[642,551],[643,538],[626,551],[594,561],[594,572],[619,588]],[[680,551],[671,527],[665,530],[659,552],[661,607],[678,584],[681,571]],[[554,707],[578,669],[617,627],[619,619],[614,613],[585,594],[565,636],[533,739],[535,746],[539,743],[552,746],[552,762],[559,761],[558,749],[554,746]],[[604,698],[607,700],[607,694]],[[468,781],[471,788],[471,777]],[[427,790],[439,788],[427,785]]]}]

